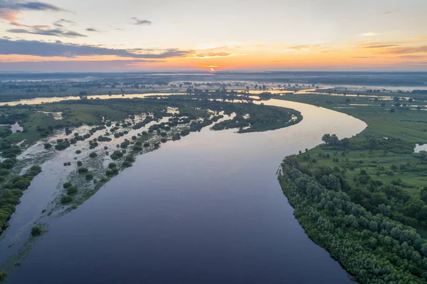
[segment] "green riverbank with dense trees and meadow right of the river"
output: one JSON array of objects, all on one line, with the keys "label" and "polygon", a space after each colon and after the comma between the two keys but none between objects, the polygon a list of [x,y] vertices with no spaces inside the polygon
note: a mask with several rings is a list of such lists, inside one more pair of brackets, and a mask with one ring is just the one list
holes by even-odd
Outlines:
[{"label": "green riverbank with dense trees and meadow right of the river", "polygon": [[426,111],[401,98],[280,99],[342,111],[368,124],[353,138],[325,135],[321,146],[283,161],[280,185],[310,238],[360,283],[425,283],[427,153],[413,148],[427,142]]}]

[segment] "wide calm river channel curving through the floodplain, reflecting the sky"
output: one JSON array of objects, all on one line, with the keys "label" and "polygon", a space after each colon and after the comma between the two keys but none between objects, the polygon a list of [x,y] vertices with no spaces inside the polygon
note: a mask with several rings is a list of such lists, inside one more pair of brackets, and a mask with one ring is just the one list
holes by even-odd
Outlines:
[{"label": "wide calm river channel curving through the floodplain, reflecting the sky", "polygon": [[[306,236],[275,173],[323,134],[350,137],[366,124],[307,104],[264,104],[304,119],[260,133],[203,129],[140,155],[78,209],[49,219],[9,283],[352,283]],[[33,180],[16,216],[56,186],[49,174]],[[19,222],[14,215],[11,227]]]}]

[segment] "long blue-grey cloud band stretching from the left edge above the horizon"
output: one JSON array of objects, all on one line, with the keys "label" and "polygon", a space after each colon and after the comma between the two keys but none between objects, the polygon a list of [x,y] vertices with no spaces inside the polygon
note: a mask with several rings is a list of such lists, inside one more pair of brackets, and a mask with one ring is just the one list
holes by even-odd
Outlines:
[{"label": "long blue-grey cloud band stretching from the left edge above the horizon", "polygon": [[0,54],[33,55],[40,57],[67,57],[93,55],[115,55],[122,58],[162,59],[186,57],[194,52],[191,50],[169,49],[112,49],[93,45],[77,45],[71,43],[43,42],[37,40],[9,40],[0,38]]}]

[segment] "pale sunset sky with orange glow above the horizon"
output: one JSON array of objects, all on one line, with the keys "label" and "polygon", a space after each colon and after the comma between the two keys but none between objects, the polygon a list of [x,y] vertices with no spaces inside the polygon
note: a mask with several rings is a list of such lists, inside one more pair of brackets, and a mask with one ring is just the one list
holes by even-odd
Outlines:
[{"label": "pale sunset sky with orange glow above the horizon", "polygon": [[427,0],[0,0],[0,72],[427,71]]}]

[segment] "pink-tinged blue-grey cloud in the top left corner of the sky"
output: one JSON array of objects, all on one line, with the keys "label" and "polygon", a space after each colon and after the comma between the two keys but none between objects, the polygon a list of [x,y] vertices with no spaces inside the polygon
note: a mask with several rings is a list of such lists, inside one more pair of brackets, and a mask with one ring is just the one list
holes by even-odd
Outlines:
[{"label": "pink-tinged blue-grey cloud in the top left corner of the sky", "polygon": [[19,1],[19,0],[1,0],[0,1],[0,18],[7,20],[11,23],[17,23],[17,16],[22,11],[66,11],[40,1]]}]

